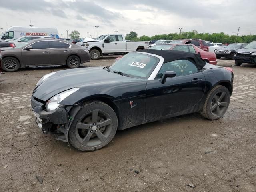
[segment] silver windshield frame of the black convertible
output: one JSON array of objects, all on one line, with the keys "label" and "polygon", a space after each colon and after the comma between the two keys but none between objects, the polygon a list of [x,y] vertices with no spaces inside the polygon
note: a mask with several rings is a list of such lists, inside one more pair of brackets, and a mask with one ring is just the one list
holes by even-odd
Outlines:
[{"label": "silver windshield frame of the black convertible", "polygon": [[[154,57],[159,59],[158,64],[156,64],[156,66],[152,70],[151,74],[149,73],[148,76],[146,76],[146,77],[139,77],[139,76],[134,76],[134,75],[128,74],[130,78],[136,78],[138,80],[145,80],[145,79],[154,80],[156,75],[158,74],[158,71],[162,67],[162,64],[164,63],[164,58],[162,58],[159,55],[155,55],[155,54],[151,54],[151,53],[147,53],[147,52],[136,51],[136,52],[130,52],[130,53],[146,54],[146,55],[154,56]],[[128,54],[126,54],[126,55],[128,55]],[[122,58],[120,60],[122,60]],[[116,62],[114,64],[112,64],[112,66],[114,66],[115,64],[116,64]],[[109,68],[112,69],[112,66],[110,66]],[[112,69],[112,70],[114,70],[114,69]],[[124,73],[124,74],[127,74],[126,72],[123,72],[123,71],[121,71],[121,72]]]}]

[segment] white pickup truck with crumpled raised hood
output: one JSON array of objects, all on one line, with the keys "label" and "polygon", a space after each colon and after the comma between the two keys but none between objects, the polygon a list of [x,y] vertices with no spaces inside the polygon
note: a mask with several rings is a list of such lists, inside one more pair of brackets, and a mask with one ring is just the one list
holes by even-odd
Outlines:
[{"label": "white pickup truck with crumpled raised hood", "polygon": [[84,38],[88,44],[91,59],[99,59],[103,55],[125,54],[146,49],[148,41],[126,41],[122,34],[101,35],[97,39]]}]

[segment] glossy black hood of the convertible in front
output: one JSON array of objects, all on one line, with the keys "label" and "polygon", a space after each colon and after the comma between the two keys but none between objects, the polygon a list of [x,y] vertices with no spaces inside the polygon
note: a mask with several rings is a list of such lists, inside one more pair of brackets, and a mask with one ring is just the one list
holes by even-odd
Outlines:
[{"label": "glossy black hood of the convertible in front", "polygon": [[97,89],[97,86],[102,87],[110,84],[114,86],[117,83],[140,80],[108,72],[102,68],[90,67],[58,71],[39,84],[34,89],[33,96],[46,102],[56,94],[71,88],[78,87],[84,90],[84,88],[88,87],[88,91],[90,91],[92,87]]}]

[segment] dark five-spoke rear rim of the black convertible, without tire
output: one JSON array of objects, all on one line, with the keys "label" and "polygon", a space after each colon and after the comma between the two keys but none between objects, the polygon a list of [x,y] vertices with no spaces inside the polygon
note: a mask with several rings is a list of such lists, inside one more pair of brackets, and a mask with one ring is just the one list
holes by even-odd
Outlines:
[{"label": "dark five-spoke rear rim of the black convertible, without tire", "polygon": [[221,91],[214,95],[211,102],[210,111],[214,116],[220,116],[228,107],[228,95]]}]

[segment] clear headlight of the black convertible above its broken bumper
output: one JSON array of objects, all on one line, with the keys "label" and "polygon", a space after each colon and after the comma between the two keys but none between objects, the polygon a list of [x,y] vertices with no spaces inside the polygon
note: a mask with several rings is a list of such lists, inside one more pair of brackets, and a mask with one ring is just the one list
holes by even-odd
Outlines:
[{"label": "clear headlight of the black convertible above its broken bumper", "polygon": [[62,102],[62,100],[64,100],[65,98],[70,96],[72,93],[76,92],[77,90],[79,90],[79,88],[72,88],[53,96],[46,103],[46,106],[45,106],[46,110],[48,111],[56,110],[60,106],[59,103]]}]

